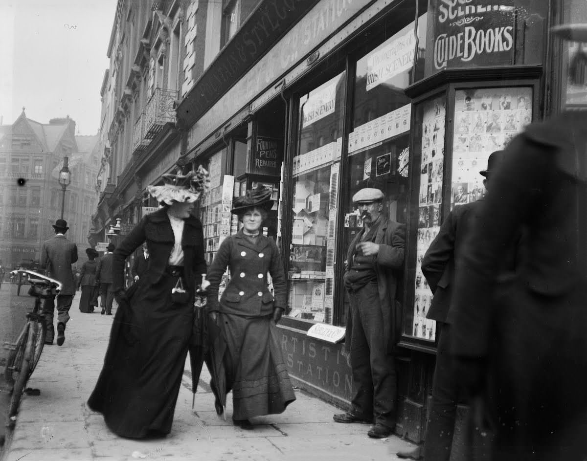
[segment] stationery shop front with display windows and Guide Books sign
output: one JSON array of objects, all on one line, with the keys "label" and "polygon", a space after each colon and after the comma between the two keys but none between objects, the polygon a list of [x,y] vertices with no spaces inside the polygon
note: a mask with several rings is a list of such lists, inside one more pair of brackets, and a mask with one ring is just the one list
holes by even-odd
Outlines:
[{"label": "stationery shop front with display windows and Guide Books sign", "polygon": [[208,263],[238,231],[232,199],[257,184],[273,191],[264,232],[288,274],[288,371],[343,407],[353,383],[342,279],[363,225],[351,198],[383,191],[384,215],[407,226],[396,432],[415,442],[437,344],[421,257],[454,206],[483,196],[490,153],[550,113],[545,87],[560,82],[549,68],[566,59],[546,39],[559,21],[549,2],[498,3],[317,2],[187,134],[186,158],[211,173],[198,211]]}]

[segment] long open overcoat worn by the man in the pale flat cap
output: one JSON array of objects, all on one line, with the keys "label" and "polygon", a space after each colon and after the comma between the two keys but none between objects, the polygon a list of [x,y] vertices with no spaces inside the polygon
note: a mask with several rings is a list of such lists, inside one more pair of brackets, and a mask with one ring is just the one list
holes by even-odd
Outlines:
[{"label": "long open overcoat worn by the man in the pale flat cap", "polygon": [[[374,243],[379,245],[379,253],[375,260],[377,274],[377,290],[382,309],[384,331],[387,331],[387,349],[392,351],[399,340],[402,325],[402,304],[396,299],[398,280],[401,279],[406,245],[406,225],[385,216],[377,229]],[[350,243],[347,261],[353,257],[354,248],[359,243],[362,233],[358,233]],[[348,267],[348,265],[347,265]],[[350,351],[352,342],[352,321],[350,315],[346,320],[345,349]]]}]

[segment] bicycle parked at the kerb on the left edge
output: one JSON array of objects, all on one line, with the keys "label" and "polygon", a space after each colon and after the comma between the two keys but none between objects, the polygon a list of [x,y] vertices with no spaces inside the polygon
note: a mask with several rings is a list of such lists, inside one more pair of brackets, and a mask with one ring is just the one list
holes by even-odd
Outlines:
[{"label": "bicycle parked at the kerb on the left edge", "polygon": [[45,344],[45,315],[41,312],[41,300],[57,296],[61,290],[61,283],[58,280],[32,270],[18,269],[11,274],[28,276],[28,282],[31,284],[28,294],[35,297],[35,306],[26,314],[26,324],[16,341],[4,343],[4,348],[10,350],[4,374],[6,383],[12,385],[8,426],[14,424],[22,392],[41,358]]}]

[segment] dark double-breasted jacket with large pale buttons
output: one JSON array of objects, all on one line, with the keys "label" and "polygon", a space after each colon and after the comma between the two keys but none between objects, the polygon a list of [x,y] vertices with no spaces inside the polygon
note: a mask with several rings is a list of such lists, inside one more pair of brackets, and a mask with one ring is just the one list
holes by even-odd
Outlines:
[{"label": "dark double-breasted jacket with large pale buttons", "polygon": [[[231,279],[218,301],[218,285],[226,268]],[[271,274],[274,296],[267,287]],[[257,244],[249,242],[242,230],[221,243],[208,269],[208,311],[239,316],[266,316],[275,307],[285,309],[286,283],[279,250],[274,240],[259,236]]]}]

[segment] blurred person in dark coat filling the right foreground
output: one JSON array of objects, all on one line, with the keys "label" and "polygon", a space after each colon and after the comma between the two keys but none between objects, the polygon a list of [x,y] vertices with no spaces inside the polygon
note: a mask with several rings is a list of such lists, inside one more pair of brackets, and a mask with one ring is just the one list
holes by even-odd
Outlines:
[{"label": "blurred person in dark coat filling the right foreground", "polygon": [[[587,24],[555,32],[587,42]],[[586,63],[579,47],[571,82]],[[471,401],[487,394],[495,461],[587,457],[586,127],[569,111],[511,141],[457,262],[451,352]],[[522,228],[522,265],[498,280]]]}]

